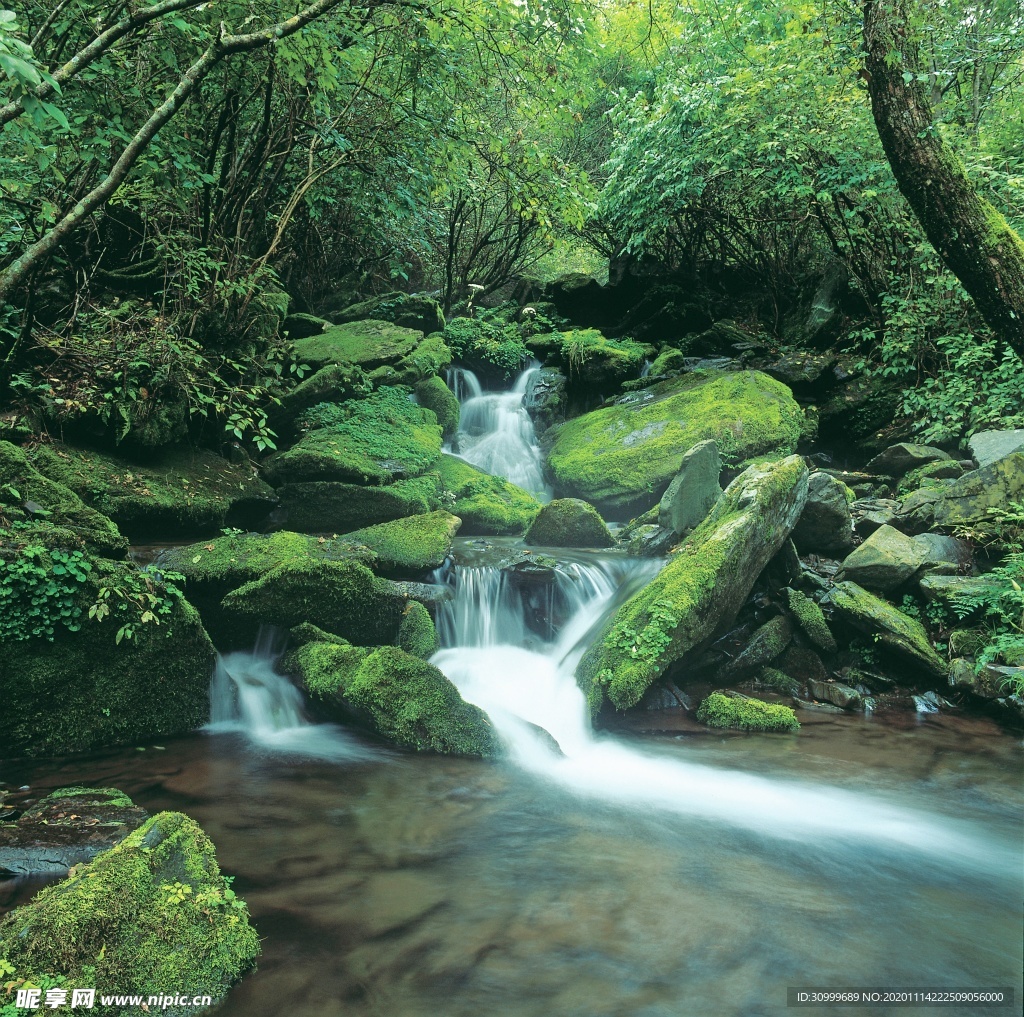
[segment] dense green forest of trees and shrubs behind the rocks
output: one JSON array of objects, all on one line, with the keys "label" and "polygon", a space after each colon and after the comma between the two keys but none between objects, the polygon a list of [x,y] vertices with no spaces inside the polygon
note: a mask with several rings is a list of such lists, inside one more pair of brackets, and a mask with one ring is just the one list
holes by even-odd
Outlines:
[{"label": "dense green forest of trees and shrubs behind the rocks", "polygon": [[[729,317],[841,349],[926,440],[1020,426],[1022,51],[1016,0],[13,3],[2,427],[266,449],[286,311],[609,266],[620,334]],[[914,201],[928,158],[998,256]]]}]

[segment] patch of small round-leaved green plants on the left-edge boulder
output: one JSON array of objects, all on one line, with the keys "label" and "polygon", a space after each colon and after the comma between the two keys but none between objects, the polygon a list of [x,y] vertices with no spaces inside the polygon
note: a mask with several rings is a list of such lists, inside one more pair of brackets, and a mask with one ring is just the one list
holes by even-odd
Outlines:
[{"label": "patch of small round-leaved green plants on the left-edge boulder", "polygon": [[[4,543],[14,536],[0,529]],[[38,638],[52,642],[57,627],[77,632],[91,571],[81,551],[48,550],[38,544],[0,557],[0,643]]]}]

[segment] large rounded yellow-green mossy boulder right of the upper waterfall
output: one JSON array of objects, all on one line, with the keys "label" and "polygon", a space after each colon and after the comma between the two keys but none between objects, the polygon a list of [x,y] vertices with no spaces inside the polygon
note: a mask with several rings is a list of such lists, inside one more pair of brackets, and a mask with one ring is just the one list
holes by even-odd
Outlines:
[{"label": "large rounded yellow-green mossy boulder right of the upper waterfall", "polygon": [[548,465],[556,494],[626,519],[657,502],[697,442],[714,439],[740,462],[781,457],[796,449],[803,419],[767,375],[694,372],[552,428]]}]

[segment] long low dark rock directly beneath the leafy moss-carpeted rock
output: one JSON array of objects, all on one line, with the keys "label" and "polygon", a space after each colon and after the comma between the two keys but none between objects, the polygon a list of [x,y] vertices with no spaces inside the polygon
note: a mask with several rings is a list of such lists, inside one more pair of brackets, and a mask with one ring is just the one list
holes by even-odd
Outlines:
[{"label": "long low dark rock directly beneath the leafy moss-carpeted rock", "polygon": [[408,515],[432,512],[440,505],[436,473],[380,486],[336,480],[286,483],[278,489],[284,522],[308,534],[344,534]]}]

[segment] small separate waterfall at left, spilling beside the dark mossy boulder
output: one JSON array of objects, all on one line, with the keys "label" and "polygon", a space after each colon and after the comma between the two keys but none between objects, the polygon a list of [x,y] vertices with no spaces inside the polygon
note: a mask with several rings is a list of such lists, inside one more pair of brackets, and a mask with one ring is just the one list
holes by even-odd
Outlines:
[{"label": "small separate waterfall at left, spilling beside the dark mossy boulder", "polygon": [[210,683],[211,732],[238,731],[264,749],[324,759],[378,755],[335,724],[305,713],[302,693],[276,670],[280,639],[260,630],[251,651],[217,654]]}]

